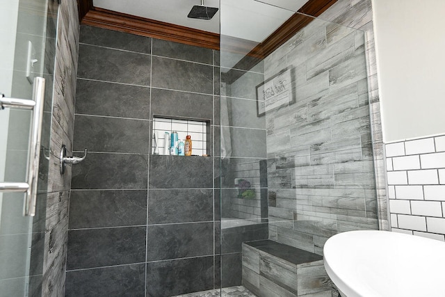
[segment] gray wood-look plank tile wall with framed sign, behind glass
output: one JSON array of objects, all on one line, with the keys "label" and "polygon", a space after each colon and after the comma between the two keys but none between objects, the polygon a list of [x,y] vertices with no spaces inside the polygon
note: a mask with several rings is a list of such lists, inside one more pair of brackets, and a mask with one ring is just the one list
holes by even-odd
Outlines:
[{"label": "gray wood-look plank tile wall with framed sign, behind glass", "polygon": [[314,20],[264,61],[265,79],[292,69],[296,97],[266,115],[269,237],[318,254],[337,232],[387,221],[371,1],[338,1],[320,18],[333,23]]}]

